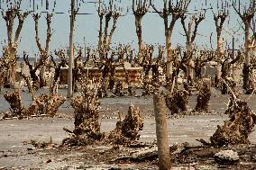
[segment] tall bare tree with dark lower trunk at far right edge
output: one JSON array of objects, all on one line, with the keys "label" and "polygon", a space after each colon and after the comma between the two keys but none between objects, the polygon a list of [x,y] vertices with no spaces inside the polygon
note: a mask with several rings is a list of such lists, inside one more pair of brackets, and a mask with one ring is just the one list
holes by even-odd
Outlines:
[{"label": "tall bare tree with dark lower trunk at far right edge", "polygon": [[242,68],[242,75],[243,75],[243,89],[245,93],[250,92],[250,79],[251,79],[251,63],[250,63],[250,46],[251,46],[251,38],[250,38],[250,29],[251,29],[251,22],[256,12],[256,1],[250,0],[249,4],[242,5],[241,7],[240,0],[234,1],[233,0],[233,9],[234,11],[240,16],[242,22],[244,24],[244,62]]}]

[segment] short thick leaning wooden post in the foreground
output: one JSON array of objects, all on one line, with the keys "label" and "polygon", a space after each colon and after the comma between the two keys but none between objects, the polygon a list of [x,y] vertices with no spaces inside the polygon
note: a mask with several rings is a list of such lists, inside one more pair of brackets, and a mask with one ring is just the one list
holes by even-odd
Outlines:
[{"label": "short thick leaning wooden post in the foreground", "polygon": [[154,110],[160,170],[170,169],[169,135],[166,121],[166,103],[160,94],[154,95]]}]

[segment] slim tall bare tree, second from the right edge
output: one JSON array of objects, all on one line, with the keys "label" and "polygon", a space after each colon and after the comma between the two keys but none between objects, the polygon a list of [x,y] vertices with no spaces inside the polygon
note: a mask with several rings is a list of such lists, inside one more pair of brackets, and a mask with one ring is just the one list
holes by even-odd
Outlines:
[{"label": "slim tall bare tree, second from the right edge", "polygon": [[217,67],[215,75],[215,85],[218,85],[221,77],[221,64],[219,61],[223,58],[224,55],[224,39],[222,37],[222,31],[224,27],[224,22],[228,15],[229,5],[226,3],[226,1],[222,1],[222,4],[217,6],[217,13],[214,13],[215,27],[217,33]]}]

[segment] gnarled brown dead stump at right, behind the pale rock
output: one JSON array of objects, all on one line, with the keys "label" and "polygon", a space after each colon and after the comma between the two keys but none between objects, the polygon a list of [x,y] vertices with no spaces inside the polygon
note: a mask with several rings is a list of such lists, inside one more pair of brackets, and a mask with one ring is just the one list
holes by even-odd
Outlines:
[{"label": "gnarled brown dead stump at right, behind the pale rock", "polygon": [[248,137],[256,123],[256,115],[251,111],[248,103],[240,99],[232,99],[225,113],[229,114],[229,120],[224,121],[223,126],[218,126],[210,138],[211,144],[219,147],[249,144]]}]

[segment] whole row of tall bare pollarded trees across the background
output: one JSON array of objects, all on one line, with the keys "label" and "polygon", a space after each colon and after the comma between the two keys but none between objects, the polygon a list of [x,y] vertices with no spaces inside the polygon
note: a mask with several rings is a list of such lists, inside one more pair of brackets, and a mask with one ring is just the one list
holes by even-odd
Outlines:
[{"label": "whole row of tall bare pollarded trees across the background", "polygon": [[[9,61],[12,63],[7,64],[5,66],[9,70],[9,80],[10,84],[14,86],[15,82],[15,70],[16,70],[16,58],[17,58],[17,48],[18,48],[18,41],[20,39],[20,34],[23,29],[23,22],[27,18],[27,16],[31,12],[24,12],[22,13],[21,8],[21,0],[15,1],[9,8],[4,12],[2,11],[3,18],[6,22],[6,28],[7,28],[7,37],[8,37],[8,43],[5,48],[5,61]],[[196,76],[200,76],[200,67],[203,67],[206,63],[206,61],[209,60],[216,60],[218,63],[217,71],[216,71],[216,82],[220,81],[220,78],[224,78],[227,75],[227,70],[230,69],[231,65],[233,65],[236,61],[239,60],[239,58],[242,55],[238,55],[237,58],[231,59],[231,56],[224,51],[224,37],[223,34],[223,27],[224,22],[226,21],[227,17],[230,13],[230,8],[233,6],[233,9],[238,15],[241,17],[242,22],[244,23],[244,35],[245,35],[245,43],[244,43],[244,49],[243,49],[243,88],[246,91],[246,93],[251,92],[251,70],[253,69],[253,65],[251,65],[251,56],[250,56],[250,50],[254,48],[254,40],[253,37],[250,36],[250,31],[253,31],[253,25],[252,20],[255,14],[256,6],[255,1],[251,0],[249,5],[241,4],[239,1],[238,3],[236,1],[233,1],[231,4],[229,4],[227,1],[222,0],[221,4],[217,6],[217,12],[214,12],[214,20],[215,20],[215,28],[216,28],[216,34],[217,34],[217,57],[215,58],[215,55],[205,55],[211,56],[206,57],[204,56],[204,59],[197,58],[194,59],[193,64],[193,58],[196,55],[196,46],[195,46],[195,40],[197,37],[197,30],[199,24],[205,20],[206,18],[206,9],[202,9],[198,13],[194,14],[188,14],[187,8],[188,5],[191,3],[191,0],[181,0],[181,1],[173,1],[173,0],[163,0],[163,8],[160,10],[158,7],[154,5],[154,2],[151,0],[133,0],[132,8],[133,8],[133,14],[135,16],[135,26],[136,26],[136,34],[138,37],[138,46],[139,51],[137,54],[137,58],[130,58],[129,62],[136,63],[134,66],[141,66],[144,69],[145,76],[144,78],[147,79],[148,73],[150,71],[150,67],[152,65],[151,58],[153,58],[152,48],[150,46],[147,46],[143,43],[142,40],[142,18],[146,13],[149,13],[150,8],[154,10],[155,13],[158,13],[160,17],[163,19],[164,22],[164,28],[165,28],[165,37],[166,37],[166,43],[165,43],[165,51],[167,55],[167,59],[165,60],[163,58],[164,50],[160,48],[159,51],[159,59],[157,61],[156,65],[157,67],[164,67],[165,74],[167,77],[167,81],[171,80],[172,82],[175,77],[178,76],[178,71],[180,69],[185,70],[186,76],[187,76],[187,83],[193,83],[194,75],[193,75],[193,68],[195,69]],[[118,22],[118,19],[125,15],[125,10],[123,7],[120,7],[121,5],[120,1],[110,0],[108,1],[108,4],[105,4],[101,0],[98,3],[97,13],[99,16],[100,21],[100,28],[98,33],[98,44],[96,49],[94,50],[94,54],[96,57],[98,57],[98,62],[101,63],[101,67],[105,69],[105,73],[111,72],[112,75],[114,75],[114,67],[121,65],[120,59],[118,62],[114,61],[114,56],[117,55],[118,58],[123,58],[123,51],[125,50],[119,50],[122,49],[119,47],[119,49],[114,50],[112,46],[112,38],[114,35],[114,31],[116,29],[116,25]],[[242,6],[242,7],[241,7]],[[213,8],[211,8],[213,9]],[[75,15],[78,14],[78,9],[76,10]],[[26,64],[30,67],[30,72],[32,76],[33,85],[36,85],[38,87],[42,87],[45,85],[44,80],[44,72],[45,67],[50,61],[50,38],[52,34],[51,30],[51,19],[52,19],[52,13],[47,13],[46,15],[46,22],[47,22],[47,32],[46,32],[46,42],[45,46],[42,47],[41,41],[40,41],[40,29],[39,29],[39,20],[41,18],[40,13],[33,13],[33,19],[35,23],[35,40],[37,47],[40,51],[41,58],[39,61],[35,64],[35,66],[32,66],[32,64],[29,63],[28,58],[24,57],[24,60]],[[15,18],[18,19],[18,26],[16,27],[16,31],[14,32],[15,28]],[[177,48],[172,48],[171,45],[171,36],[174,30],[174,26],[176,22],[180,19],[180,22],[182,23],[183,30],[185,32],[185,36],[187,39],[186,43],[186,50],[183,54],[181,54],[180,50],[177,50]],[[111,23],[112,22],[112,23]],[[111,27],[112,26],[112,27]],[[111,27],[111,28],[109,28]],[[253,35],[255,36],[256,33]],[[14,37],[14,38],[13,38]],[[133,53],[133,50],[129,49],[131,53]],[[182,57],[179,57],[179,56]],[[78,55],[79,56],[79,55]],[[133,55],[130,55],[130,57]],[[201,55],[200,55],[201,56]],[[96,58],[95,57],[95,58]],[[52,59],[53,60],[53,59]],[[115,63],[115,64],[114,64]],[[57,66],[57,64],[55,64]],[[104,66],[104,67],[103,67]],[[101,68],[100,67],[100,68]],[[110,69],[112,67],[112,69]],[[35,76],[35,72],[40,69],[41,74],[40,78]],[[76,69],[76,68],[75,68]],[[109,69],[109,70],[108,70]],[[153,67],[152,67],[153,70]],[[103,75],[105,74],[103,73]],[[105,75],[106,76],[106,75]],[[103,81],[105,80],[105,76],[103,76]],[[110,83],[113,86],[113,82]]]}]

